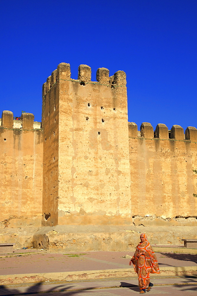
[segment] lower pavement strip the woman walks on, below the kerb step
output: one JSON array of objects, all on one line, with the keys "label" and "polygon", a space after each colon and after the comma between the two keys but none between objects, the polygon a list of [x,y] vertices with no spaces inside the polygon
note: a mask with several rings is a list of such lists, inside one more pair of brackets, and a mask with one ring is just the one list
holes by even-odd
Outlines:
[{"label": "lower pavement strip the woman walks on, below the kerb step", "polygon": [[[148,295],[197,295],[197,278],[174,277],[157,278],[151,277],[154,287],[147,292]],[[139,294],[137,277],[124,279],[110,279],[97,281],[75,281],[72,283],[36,283],[0,286],[0,295],[9,296],[131,296]]]}]

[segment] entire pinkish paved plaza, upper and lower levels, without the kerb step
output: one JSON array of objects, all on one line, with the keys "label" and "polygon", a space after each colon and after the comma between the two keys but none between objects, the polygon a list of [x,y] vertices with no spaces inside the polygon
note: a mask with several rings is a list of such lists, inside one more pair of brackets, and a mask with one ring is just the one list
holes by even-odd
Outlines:
[{"label": "entire pinkish paved plaza, upper and lower levels, without the kerb step", "polygon": [[[32,253],[29,253],[31,251]],[[29,254],[29,255],[28,255]],[[10,254],[4,254],[9,256]],[[139,294],[137,274],[136,276],[112,277],[111,271],[122,270],[129,267],[129,258],[125,255],[133,255],[132,252],[84,252],[84,253],[51,253],[34,252],[34,250],[18,250],[13,257],[1,256],[0,295],[75,295],[75,296],[130,296]],[[156,276],[151,275],[151,282],[154,287],[148,295],[197,295],[197,255],[175,252],[157,252],[157,259],[160,268],[166,267],[182,268],[181,276]],[[194,270],[193,274],[186,275],[185,270]],[[95,278],[87,280],[84,277],[86,271],[95,272]],[[106,271],[109,274],[106,278],[96,278],[98,271]],[[38,282],[10,282],[5,283],[2,276],[7,280],[19,274],[27,277],[31,274],[49,274],[65,272],[78,272],[79,280],[59,280],[47,279]],[[12,276],[13,275],[13,276]]]}]

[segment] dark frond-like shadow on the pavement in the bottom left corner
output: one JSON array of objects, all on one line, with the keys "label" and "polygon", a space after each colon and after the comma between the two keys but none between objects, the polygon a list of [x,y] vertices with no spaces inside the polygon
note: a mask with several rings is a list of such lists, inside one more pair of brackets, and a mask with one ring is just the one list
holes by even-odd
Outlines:
[{"label": "dark frond-like shadow on the pavement in the bottom left corner", "polygon": [[[43,285],[44,282],[39,282],[34,284],[31,287],[27,287],[27,289],[24,292],[24,287],[22,287],[22,289],[10,289],[8,287],[6,287],[5,285],[1,285],[0,286],[0,295],[1,296],[15,296],[15,295],[32,295],[32,294],[37,294],[37,293],[51,293],[51,292],[61,292],[61,295],[65,296],[65,295],[74,295],[76,293],[83,293],[86,290],[91,290],[94,289],[95,287],[89,287],[87,289],[75,289],[72,291],[73,286],[66,286],[66,284],[62,284],[62,285],[57,285],[55,287],[52,287],[50,289],[42,289],[41,286]],[[45,287],[47,287],[47,285],[45,285]]]}]

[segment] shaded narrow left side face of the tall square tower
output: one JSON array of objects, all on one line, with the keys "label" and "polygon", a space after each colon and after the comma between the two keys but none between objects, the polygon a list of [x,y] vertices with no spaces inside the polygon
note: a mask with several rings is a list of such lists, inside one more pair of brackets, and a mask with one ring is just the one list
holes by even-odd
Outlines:
[{"label": "shaded narrow left side face of the tall square tower", "polygon": [[58,224],[59,85],[57,70],[42,87],[43,198],[42,225]]}]

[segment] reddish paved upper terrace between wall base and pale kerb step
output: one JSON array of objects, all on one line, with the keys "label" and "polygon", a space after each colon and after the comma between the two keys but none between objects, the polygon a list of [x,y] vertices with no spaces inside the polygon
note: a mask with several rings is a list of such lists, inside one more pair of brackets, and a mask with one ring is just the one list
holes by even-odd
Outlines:
[{"label": "reddish paved upper terrace between wall base and pale kerb step", "polygon": [[[41,253],[0,258],[0,275],[129,268],[129,252]],[[156,253],[160,266],[197,266],[196,254]],[[74,256],[74,257],[73,257]]]}]

